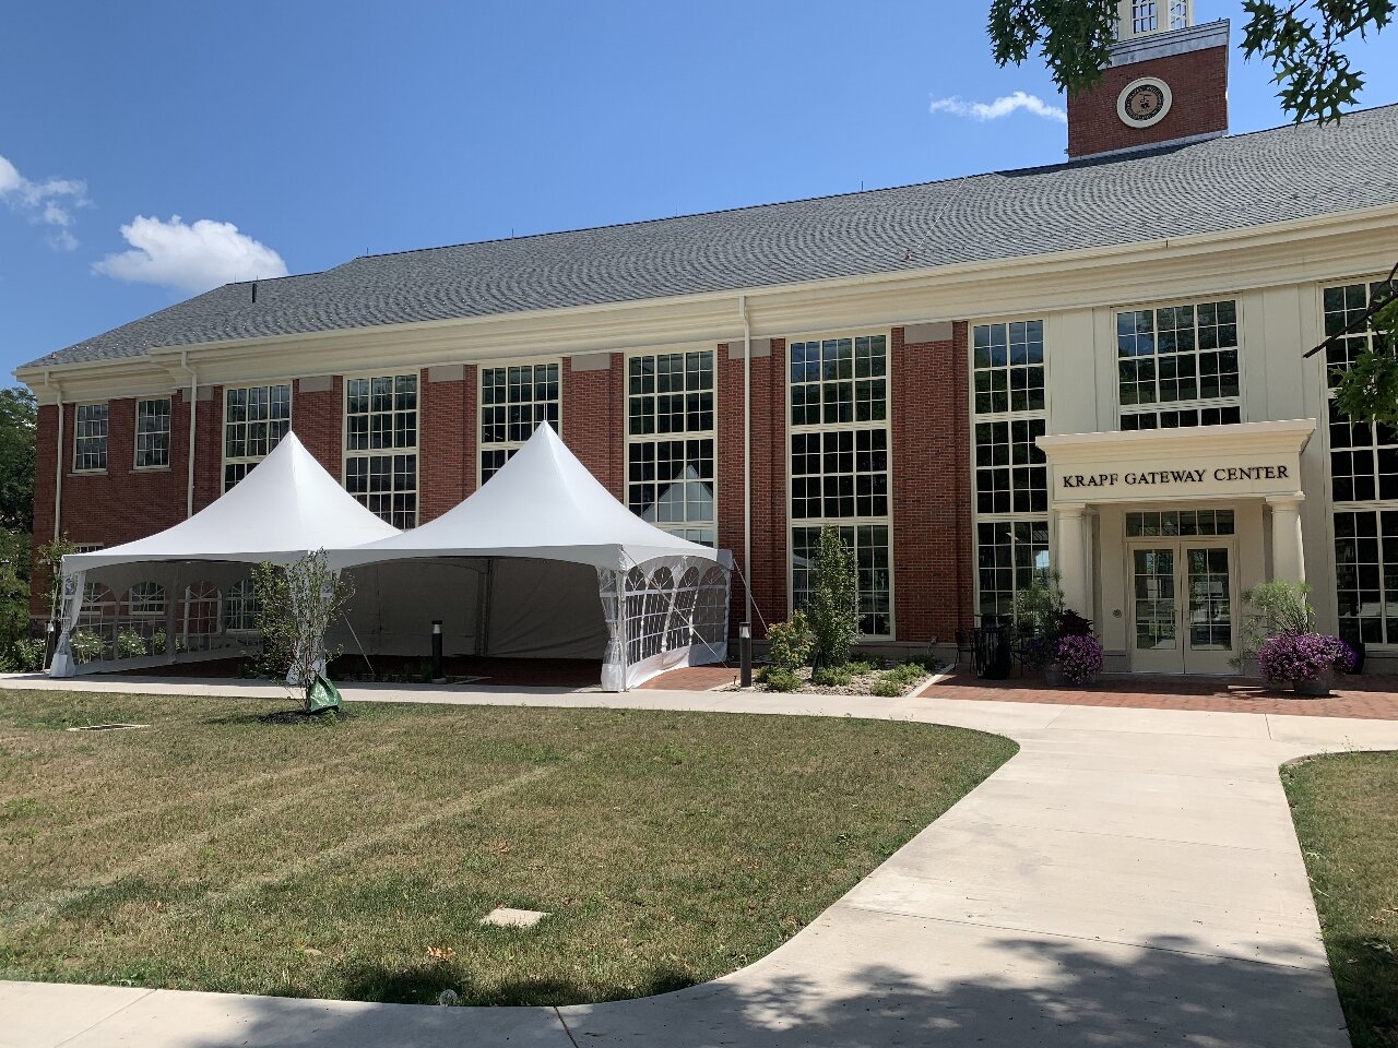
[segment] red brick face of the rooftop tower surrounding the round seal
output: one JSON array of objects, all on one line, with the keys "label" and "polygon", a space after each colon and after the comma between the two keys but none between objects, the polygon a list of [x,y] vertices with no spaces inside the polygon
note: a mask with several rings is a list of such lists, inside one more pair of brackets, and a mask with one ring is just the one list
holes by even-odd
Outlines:
[{"label": "red brick face of the rooftop tower surrounding the round seal", "polygon": [[[1116,66],[1102,81],[1068,99],[1068,155],[1090,157],[1227,130],[1227,48]],[[1117,116],[1121,89],[1141,77],[1170,85],[1170,112],[1153,127],[1135,129]]]}]

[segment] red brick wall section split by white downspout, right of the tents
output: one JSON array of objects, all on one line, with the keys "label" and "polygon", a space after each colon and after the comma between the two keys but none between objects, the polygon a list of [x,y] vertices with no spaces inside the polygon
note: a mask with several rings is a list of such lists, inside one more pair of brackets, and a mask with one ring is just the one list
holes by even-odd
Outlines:
[{"label": "red brick wall section split by white downspout, right of the tents", "polygon": [[[787,450],[786,344],[772,340],[770,356],[752,358],[752,566],[742,563],[742,361],[717,352],[719,393],[719,546],[731,549],[734,563],[752,585],[756,606],[752,636],[762,623],[787,616]],[[733,634],[747,615],[742,580],[733,580]]]}]

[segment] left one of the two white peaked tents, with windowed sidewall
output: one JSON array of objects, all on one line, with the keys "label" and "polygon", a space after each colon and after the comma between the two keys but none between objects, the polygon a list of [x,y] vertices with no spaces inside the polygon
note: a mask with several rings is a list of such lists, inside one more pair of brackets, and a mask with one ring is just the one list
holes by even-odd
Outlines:
[{"label": "left one of the two white peaked tents, with windowed sidewall", "polygon": [[[250,565],[288,565],[317,549],[329,558],[338,549],[397,534],[396,527],[341,488],[295,433],[288,433],[236,486],[193,517],[136,542],[63,558],[62,633],[49,675],[141,669],[235,654],[250,634],[239,637],[215,629],[200,636],[199,650],[179,650],[176,637],[190,636],[192,608],[207,619],[207,602],[221,601],[229,587],[249,576]],[[73,633],[82,627],[89,576],[99,592],[113,594],[113,637],[105,641],[112,657],[78,662]],[[138,587],[158,587],[161,602],[143,608]],[[215,606],[214,615],[214,622],[221,622],[222,606]],[[124,646],[123,634],[130,639]],[[137,640],[148,644],[148,654],[120,657],[123,647],[138,650]]]}]

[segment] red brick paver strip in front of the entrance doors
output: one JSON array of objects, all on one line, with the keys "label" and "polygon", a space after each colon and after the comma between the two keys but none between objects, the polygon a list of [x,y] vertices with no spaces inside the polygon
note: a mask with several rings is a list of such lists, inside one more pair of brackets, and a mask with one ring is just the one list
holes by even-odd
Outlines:
[{"label": "red brick paver strip in front of the entrance doors", "polygon": [[923,692],[935,699],[1005,703],[1116,706],[1138,710],[1206,710],[1211,713],[1272,713],[1299,717],[1366,717],[1398,721],[1398,679],[1341,678],[1328,699],[1304,699],[1246,678],[1104,676],[1090,687],[1050,687],[1033,678],[981,681],[962,668]]}]

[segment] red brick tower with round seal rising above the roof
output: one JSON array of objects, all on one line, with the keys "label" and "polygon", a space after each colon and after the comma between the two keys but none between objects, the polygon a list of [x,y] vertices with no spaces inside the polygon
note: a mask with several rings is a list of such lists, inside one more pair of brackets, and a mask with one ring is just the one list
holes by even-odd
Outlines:
[{"label": "red brick tower with round seal rising above the roof", "polygon": [[1068,99],[1068,155],[1103,157],[1227,134],[1227,21],[1194,0],[1121,0],[1102,80]]}]

